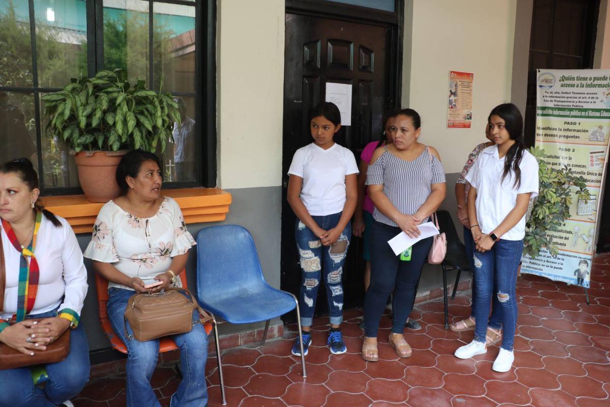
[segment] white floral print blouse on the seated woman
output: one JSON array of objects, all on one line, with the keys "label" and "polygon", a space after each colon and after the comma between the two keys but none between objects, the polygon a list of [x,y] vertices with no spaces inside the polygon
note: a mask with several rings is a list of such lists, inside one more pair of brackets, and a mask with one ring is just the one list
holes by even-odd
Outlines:
[{"label": "white floral print blouse on the seated woman", "polygon": [[[138,218],[109,201],[99,211],[84,256],[112,263],[120,272],[150,284],[170,268],[171,258],[187,253],[195,244],[172,198],[165,196],[157,213],[149,218]],[[132,290],[112,282],[108,287]]]}]

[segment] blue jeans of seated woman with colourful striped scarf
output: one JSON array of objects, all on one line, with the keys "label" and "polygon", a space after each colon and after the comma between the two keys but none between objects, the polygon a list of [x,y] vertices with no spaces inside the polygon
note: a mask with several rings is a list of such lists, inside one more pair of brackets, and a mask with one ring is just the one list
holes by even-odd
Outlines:
[{"label": "blue jeans of seated woman with colourful striped scarf", "polygon": [[[56,317],[56,311],[27,315],[26,318]],[[49,380],[45,387],[34,386],[29,367],[0,370],[0,406],[51,407],[79,394],[89,380],[89,346],[82,322],[70,332],[70,353],[58,363],[45,366]]]}]

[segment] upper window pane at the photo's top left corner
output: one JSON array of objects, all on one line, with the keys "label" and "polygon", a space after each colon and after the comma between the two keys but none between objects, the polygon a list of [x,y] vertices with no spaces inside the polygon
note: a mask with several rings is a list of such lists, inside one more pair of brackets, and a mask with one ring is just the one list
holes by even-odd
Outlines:
[{"label": "upper window pane at the photo's top left corner", "polygon": [[0,86],[32,86],[32,43],[27,0],[0,1]]}]

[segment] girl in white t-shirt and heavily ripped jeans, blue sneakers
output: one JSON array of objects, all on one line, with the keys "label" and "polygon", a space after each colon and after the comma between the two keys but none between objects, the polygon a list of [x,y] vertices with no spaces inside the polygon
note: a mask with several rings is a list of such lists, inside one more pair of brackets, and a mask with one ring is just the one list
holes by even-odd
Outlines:
[{"label": "girl in white t-shirt and heavily ripped jeans, blue sneakers", "polygon": [[[299,297],[303,354],[307,355],[311,344],[310,327],[323,272],[331,322],[326,344],[331,353],[340,355],[347,350],[339,326],[343,319],[343,262],[356,208],[358,167],[354,154],[333,140],[341,127],[339,108],[320,103],[310,118],[314,142],[296,150],[288,171],[288,203],[298,218],[296,246],[303,271]],[[298,338],[292,354],[301,355]]]}]

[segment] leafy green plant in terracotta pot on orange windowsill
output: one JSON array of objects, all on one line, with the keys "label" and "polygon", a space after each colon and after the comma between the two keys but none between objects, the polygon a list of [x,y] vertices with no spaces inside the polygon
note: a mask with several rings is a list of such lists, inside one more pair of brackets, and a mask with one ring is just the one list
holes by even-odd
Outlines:
[{"label": "leafy green plant in terracotta pot on orange windowsill", "polygon": [[71,79],[59,92],[42,96],[49,117],[46,135],[63,140],[78,167],[87,199],[107,202],[119,194],[115,171],[129,149],[165,151],[178,103],[168,92],[154,92],[146,82],[134,85],[121,70]]}]

